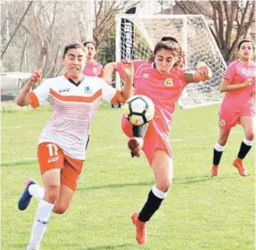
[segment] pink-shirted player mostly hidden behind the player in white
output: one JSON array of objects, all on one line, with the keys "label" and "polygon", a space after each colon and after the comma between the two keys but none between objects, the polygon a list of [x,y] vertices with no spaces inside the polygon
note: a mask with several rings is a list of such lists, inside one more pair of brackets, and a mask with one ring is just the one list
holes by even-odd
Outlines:
[{"label": "pink-shirted player mostly hidden behind the player in white", "polygon": [[100,63],[94,60],[96,50],[95,44],[91,41],[83,43],[85,48],[85,66],[83,74],[87,76],[103,77],[103,67]]}]

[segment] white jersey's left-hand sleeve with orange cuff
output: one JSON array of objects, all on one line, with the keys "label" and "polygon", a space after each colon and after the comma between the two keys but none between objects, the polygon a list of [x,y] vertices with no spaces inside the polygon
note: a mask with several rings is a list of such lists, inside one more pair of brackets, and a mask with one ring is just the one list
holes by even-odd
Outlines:
[{"label": "white jersey's left-hand sleeve with orange cuff", "polygon": [[50,93],[50,81],[45,80],[39,87],[32,92],[29,92],[29,98],[31,100],[31,106],[38,108],[39,106],[47,103],[47,99]]}]

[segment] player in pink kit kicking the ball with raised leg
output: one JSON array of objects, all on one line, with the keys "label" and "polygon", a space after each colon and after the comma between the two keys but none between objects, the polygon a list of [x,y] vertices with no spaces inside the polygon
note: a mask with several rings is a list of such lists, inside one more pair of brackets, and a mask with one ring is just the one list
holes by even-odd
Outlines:
[{"label": "player in pink kit kicking the ball with raised leg", "polygon": [[[135,126],[128,123],[125,117],[122,119],[122,128],[129,137],[128,147],[132,156],[139,156],[142,147],[156,181],[142,210],[131,217],[136,226],[139,245],[147,243],[146,223],[159,209],[172,184],[173,155],[168,135],[175,104],[187,83],[206,81],[211,77],[205,63],[196,67],[196,71],[188,71],[183,69],[183,61],[180,44],[175,38],[169,37],[157,43],[151,60],[133,60],[134,93],[150,97],[155,105],[154,117],[148,125]],[[121,62],[107,64],[106,81],[111,82],[113,71],[118,71],[124,77],[123,67]]]}]

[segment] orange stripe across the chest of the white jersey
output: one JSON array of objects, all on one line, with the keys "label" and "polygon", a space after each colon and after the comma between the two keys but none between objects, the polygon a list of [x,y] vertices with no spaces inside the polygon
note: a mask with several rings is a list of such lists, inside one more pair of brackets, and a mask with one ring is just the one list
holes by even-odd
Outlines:
[{"label": "orange stripe across the chest of the white jersey", "polygon": [[76,103],[93,103],[98,97],[102,95],[102,91],[99,90],[95,92],[92,96],[76,96],[76,95],[61,95],[58,92],[53,91],[50,89],[50,94],[55,98],[64,101],[64,102],[76,102]]}]

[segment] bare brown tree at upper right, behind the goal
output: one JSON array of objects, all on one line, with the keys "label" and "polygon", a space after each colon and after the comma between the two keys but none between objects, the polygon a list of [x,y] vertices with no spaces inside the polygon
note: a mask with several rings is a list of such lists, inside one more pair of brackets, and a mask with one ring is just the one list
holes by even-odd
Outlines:
[{"label": "bare brown tree at upper right, behind the goal", "polygon": [[[176,1],[184,14],[203,14],[224,59],[232,60],[240,38],[247,38],[255,23],[255,1]],[[210,7],[209,7],[210,6]]]}]

